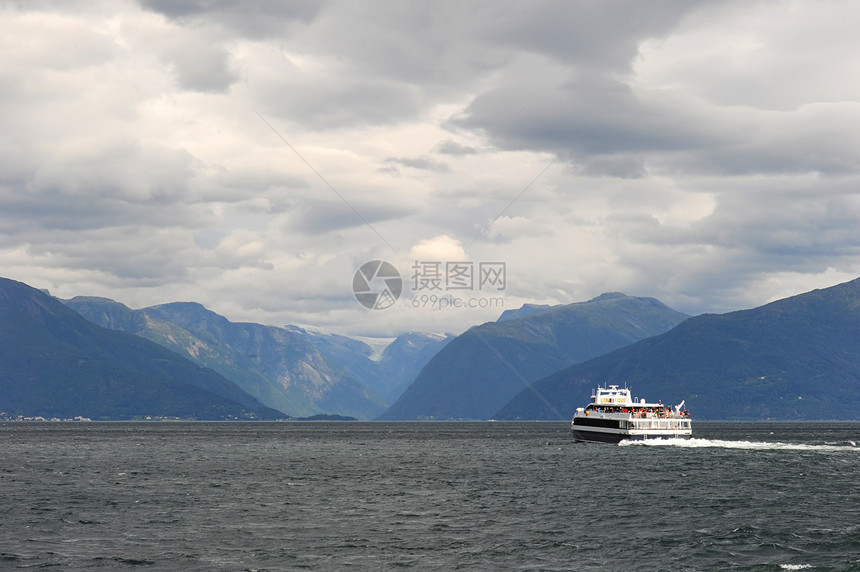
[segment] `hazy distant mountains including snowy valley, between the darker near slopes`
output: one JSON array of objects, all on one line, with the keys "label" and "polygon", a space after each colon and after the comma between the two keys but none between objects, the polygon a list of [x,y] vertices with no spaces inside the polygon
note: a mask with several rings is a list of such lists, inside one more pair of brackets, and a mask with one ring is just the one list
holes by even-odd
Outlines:
[{"label": "hazy distant mountains including snowy valley, between the darker near slopes", "polygon": [[147,338],[211,368],[295,417],[376,417],[450,339],[410,332],[361,340],[298,326],[236,323],[194,302],[140,310],[107,298],[76,297],[65,304],[96,324]]}]

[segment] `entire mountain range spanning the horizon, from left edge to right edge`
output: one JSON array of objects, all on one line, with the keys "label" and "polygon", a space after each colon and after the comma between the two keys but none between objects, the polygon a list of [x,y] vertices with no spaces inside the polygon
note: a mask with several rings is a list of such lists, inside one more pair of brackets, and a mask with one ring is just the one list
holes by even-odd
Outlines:
[{"label": "entire mountain range spanning the horizon, from left edge to right edge", "polygon": [[609,293],[379,339],[0,278],[0,418],[569,419],[617,384],[696,419],[860,419],[858,340],[860,279],[719,315]]}]

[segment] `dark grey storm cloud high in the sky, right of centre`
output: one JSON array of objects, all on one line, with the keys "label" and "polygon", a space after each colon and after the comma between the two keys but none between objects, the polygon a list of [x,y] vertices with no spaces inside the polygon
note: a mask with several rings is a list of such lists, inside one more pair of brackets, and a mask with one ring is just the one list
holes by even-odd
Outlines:
[{"label": "dark grey storm cloud high in the sky, right of centre", "polygon": [[696,116],[683,107],[642,101],[616,78],[559,77],[540,62],[524,67],[518,80],[529,81],[514,81],[512,76],[476,97],[448,124],[479,130],[503,149],[596,155],[701,148],[709,140],[727,137],[708,125],[694,128]]}]

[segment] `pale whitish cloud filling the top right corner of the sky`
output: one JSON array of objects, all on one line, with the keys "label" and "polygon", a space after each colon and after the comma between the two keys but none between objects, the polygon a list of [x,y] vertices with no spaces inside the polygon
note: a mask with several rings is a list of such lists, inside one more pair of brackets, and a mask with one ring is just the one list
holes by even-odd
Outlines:
[{"label": "pale whitish cloud filling the top right corner of the sky", "polygon": [[844,80],[860,56],[850,32],[858,12],[844,3],[705,4],[671,35],[645,40],[634,69],[646,84],[724,107],[856,102],[858,87]]}]

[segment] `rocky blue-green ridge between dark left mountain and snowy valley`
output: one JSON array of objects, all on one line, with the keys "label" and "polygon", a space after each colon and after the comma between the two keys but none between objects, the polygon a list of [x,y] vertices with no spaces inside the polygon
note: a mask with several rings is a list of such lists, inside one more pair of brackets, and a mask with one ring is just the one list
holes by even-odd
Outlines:
[{"label": "rocky blue-green ridge between dark left mountain and snowy valley", "polygon": [[321,413],[372,418],[385,402],[294,330],[235,323],[194,302],[142,310],[105,298],[66,305],[100,325],[152,340],[234,381],[295,417]]}]

